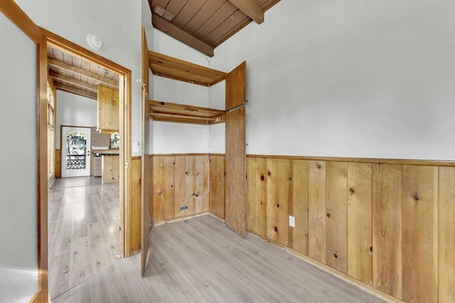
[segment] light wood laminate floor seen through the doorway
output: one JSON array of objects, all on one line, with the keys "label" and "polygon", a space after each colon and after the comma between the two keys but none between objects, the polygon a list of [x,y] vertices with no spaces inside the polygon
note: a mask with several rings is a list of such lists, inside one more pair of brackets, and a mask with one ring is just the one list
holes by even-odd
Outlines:
[{"label": "light wood laminate floor seen through the doorway", "polygon": [[58,297],[119,258],[119,184],[57,179],[48,192],[49,294]]}]

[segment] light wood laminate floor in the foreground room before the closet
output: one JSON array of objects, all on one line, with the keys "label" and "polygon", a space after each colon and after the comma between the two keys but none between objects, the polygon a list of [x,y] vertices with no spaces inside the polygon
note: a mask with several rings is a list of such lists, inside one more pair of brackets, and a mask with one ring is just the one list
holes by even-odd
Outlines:
[{"label": "light wood laminate floor in the foreground room before the closet", "polygon": [[146,277],[140,254],[53,302],[383,302],[210,215],[156,226]]}]

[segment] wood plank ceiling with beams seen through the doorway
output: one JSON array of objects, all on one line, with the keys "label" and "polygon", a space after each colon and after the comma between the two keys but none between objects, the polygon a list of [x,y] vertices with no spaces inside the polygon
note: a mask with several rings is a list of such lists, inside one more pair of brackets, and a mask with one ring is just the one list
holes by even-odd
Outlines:
[{"label": "wood plank ceiling with beams seen through the doorway", "polygon": [[97,99],[98,85],[119,89],[119,75],[48,45],[48,72],[55,89]]}]

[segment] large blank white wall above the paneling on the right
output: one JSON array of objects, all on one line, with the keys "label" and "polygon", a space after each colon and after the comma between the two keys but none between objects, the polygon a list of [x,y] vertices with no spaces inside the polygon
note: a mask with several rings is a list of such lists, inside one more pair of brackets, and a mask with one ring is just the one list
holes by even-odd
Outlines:
[{"label": "large blank white wall above the paneling on the right", "polygon": [[210,67],[247,60],[249,154],[455,160],[454,32],[454,1],[286,0]]}]

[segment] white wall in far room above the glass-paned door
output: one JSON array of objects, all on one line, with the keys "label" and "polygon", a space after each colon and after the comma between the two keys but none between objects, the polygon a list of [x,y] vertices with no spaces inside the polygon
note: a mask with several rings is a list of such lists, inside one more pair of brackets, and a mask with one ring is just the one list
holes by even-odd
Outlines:
[{"label": "white wall in far room above the glass-paned door", "polygon": [[97,126],[97,101],[57,91],[55,148],[60,148],[60,126]]}]

